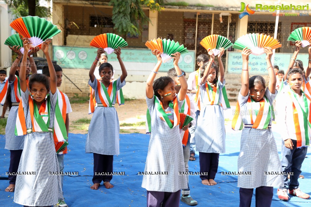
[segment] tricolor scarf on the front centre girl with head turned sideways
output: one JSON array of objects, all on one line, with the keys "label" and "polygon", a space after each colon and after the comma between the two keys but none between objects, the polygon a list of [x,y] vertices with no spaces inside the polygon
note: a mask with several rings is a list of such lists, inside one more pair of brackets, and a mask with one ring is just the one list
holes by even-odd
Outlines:
[{"label": "tricolor scarf on the front centre girl with head turned sideways", "polygon": [[[154,102],[155,102],[155,108],[157,115],[162,119],[163,121],[166,122],[166,124],[169,126],[169,128],[174,128],[175,126],[179,125],[179,109],[178,109],[178,102],[177,102],[177,97],[174,99],[173,102],[169,101],[169,107],[174,109],[174,121],[169,119],[168,115],[166,114],[162,102],[159,100],[158,97],[154,96]],[[149,109],[147,109],[147,120],[146,120],[146,134],[151,133],[151,116]]]}]

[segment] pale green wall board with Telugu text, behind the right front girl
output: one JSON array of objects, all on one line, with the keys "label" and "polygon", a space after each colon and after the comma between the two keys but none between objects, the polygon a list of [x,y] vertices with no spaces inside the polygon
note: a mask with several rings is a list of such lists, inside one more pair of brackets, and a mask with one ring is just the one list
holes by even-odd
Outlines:
[{"label": "pale green wall board with Telugu text, behind the right front girl", "polygon": [[[288,65],[290,63],[290,58],[292,53],[276,53],[274,56],[274,65],[279,66],[280,70],[287,70]],[[308,54],[298,54],[297,60],[301,60],[304,64],[304,68],[307,68],[308,64]],[[256,56],[250,55],[248,60],[248,70],[249,74],[262,74],[267,75],[267,61],[266,54]],[[242,55],[240,52],[228,52],[228,63],[227,63],[227,71],[228,73],[242,73]]]}]

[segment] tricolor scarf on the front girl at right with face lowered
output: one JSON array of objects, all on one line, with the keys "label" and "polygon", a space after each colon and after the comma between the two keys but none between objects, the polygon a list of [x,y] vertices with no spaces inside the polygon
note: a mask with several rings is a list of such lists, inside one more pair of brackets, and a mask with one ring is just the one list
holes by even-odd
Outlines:
[{"label": "tricolor scarf on the front girl at right with face lowered", "polygon": [[[245,111],[247,114],[243,115],[246,117],[247,122],[253,125],[252,128],[267,129],[271,119],[271,106],[269,100],[266,96],[264,96],[259,101],[260,105],[259,110],[255,109],[257,104],[258,102],[255,102],[253,99],[250,98],[250,96],[248,96],[247,101],[248,110]],[[244,128],[244,124],[242,121],[243,115],[241,115],[240,113],[240,105],[238,101],[236,104],[235,113],[231,124],[233,130],[238,131]]]}]

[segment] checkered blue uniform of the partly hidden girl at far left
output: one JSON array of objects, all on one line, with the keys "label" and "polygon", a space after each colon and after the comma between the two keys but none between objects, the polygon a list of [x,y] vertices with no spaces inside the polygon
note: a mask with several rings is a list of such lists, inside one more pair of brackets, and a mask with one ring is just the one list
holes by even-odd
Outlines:
[{"label": "checkered blue uniform of the partly hidden girl at far left", "polygon": [[[14,77],[15,80],[16,77]],[[16,97],[14,92],[14,80],[9,81],[11,87],[11,101],[16,103]],[[22,150],[24,148],[24,139],[25,136],[15,136],[15,123],[18,111],[18,104],[13,106],[10,109],[9,115],[7,117],[7,125],[5,127],[5,149],[7,150]]]}]

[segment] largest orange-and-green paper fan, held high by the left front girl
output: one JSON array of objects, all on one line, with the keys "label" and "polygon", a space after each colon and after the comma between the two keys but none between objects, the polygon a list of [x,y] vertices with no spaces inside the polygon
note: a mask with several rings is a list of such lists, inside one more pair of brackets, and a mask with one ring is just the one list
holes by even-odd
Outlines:
[{"label": "largest orange-and-green paper fan, held high by the left front girl", "polygon": [[30,38],[31,47],[40,46],[47,38],[61,32],[52,22],[38,16],[20,17],[10,24],[23,38]]}]

